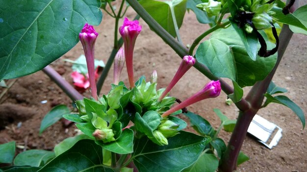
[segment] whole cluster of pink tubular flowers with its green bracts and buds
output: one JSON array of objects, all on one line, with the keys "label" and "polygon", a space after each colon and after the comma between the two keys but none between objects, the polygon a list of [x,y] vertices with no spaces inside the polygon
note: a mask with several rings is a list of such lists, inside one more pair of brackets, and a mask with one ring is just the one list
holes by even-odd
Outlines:
[{"label": "whole cluster of pink tubular flowers with its green bracts and buds", "polygon": [[[183,57],[178,71],[166,89],[156,89],[157,72],[155,70],[151,75],[150,82],[146,82],[145,77],[142,76],[134,83],[133,48],[141,28],[138,21],[129,21],[125,18],[124,24],[119,29],[124,39],[125,51],[121,48],[116,54],[114,84],[108,94],[102,95],[100,98],[97,96],[94,73],[94,43],[98,34],[93,26],[88,24],[85,24],[80,33],[93,98],[76,101],[79,114],[67,118],[77,122],[78,129],[89,137],[95,138],[98,144],[103,145],[116,141],[121,137],[122,132],[134,129],[134,132],[137,132],[136,137],[147,136],[157,145],[168,145],[167,138],[176,135],[187,126],[183,120],[169,115],[179,114],[182,112],[181,108],[203,99],[217,97],[220,94],[219,81],[211,81],[196,94],[172,107],[176,103],[176,98],[167,95],[179,79],[196,63],[192,56]],[[129,88],[120,81],[125,61]],[[83,79],[79,78],[82,81]],[[94,83],[92,84],[92,82]],[[131,129],[127,127],[129,121],[134,123]]]}]

